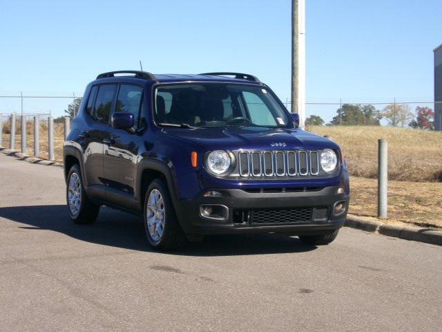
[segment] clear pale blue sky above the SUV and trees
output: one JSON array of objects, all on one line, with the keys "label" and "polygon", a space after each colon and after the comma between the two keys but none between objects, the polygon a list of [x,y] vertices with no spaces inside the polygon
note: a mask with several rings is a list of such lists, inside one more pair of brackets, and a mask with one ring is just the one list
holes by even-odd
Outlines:
[{"label": "clear pale blue sky above the SUV and trees", "polygon": [[[440,0],[307,0],[307,100],[432,100]],[[0,93],[83,93],[104,71],[253,73],[290,95],[291,1],[1,1]],[[25,101],[61,115],[68,100]],[[20,111],[0,98],[0,113]],[[336,107],[307,107],[326,120]]]}]

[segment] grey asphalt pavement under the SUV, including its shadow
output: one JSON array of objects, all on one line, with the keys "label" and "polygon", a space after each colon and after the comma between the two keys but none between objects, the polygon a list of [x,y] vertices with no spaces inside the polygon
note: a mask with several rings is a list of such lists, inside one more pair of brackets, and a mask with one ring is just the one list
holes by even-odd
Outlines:
[{"label": "grey asphalt pavement under the SUV, including its shadow", "polygon": [[441,331],[442,248],[344,228],[153,252],[140,219],[65,211],[62,169],[0,154],[0,331]]}]

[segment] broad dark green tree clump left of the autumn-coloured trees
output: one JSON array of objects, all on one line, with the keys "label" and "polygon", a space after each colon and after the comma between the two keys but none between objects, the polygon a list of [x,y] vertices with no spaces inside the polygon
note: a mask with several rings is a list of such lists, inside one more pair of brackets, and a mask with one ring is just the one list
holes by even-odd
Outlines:
[{"label": "broad dark green tree clump left of the autumn-coloured trees", "polygon": [[336,113],[338,115],[330,122],[332,125],[379,125],[378,111],[373,105],[343,104]]}]

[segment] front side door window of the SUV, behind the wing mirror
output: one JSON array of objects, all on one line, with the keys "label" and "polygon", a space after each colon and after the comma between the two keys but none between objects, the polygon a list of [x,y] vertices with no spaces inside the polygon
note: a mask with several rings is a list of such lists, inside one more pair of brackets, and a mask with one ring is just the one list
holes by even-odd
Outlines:
[{"label": "front side door window of the SUV, behind the wing mirror", "polygon": [[115,112],[132,113],[135,123],[134,129],[138,128],[142,95],[143,88],[141,86],[131,84],[121,84],[119,86]]}]

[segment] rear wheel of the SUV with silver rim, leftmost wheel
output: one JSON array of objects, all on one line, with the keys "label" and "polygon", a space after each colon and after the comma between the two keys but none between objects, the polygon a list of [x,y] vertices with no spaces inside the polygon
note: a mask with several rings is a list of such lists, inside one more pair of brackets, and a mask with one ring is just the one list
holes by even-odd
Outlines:
[{"label": "rear wheel of the SUV with silver rim, leftmost wheel", "polygon": [[70,167],[68,173],[66,203],[69,219],[74,223],[91,224],[97,219],[99,205],[88,199],[84,191],[81,171],[77,164]]}]

